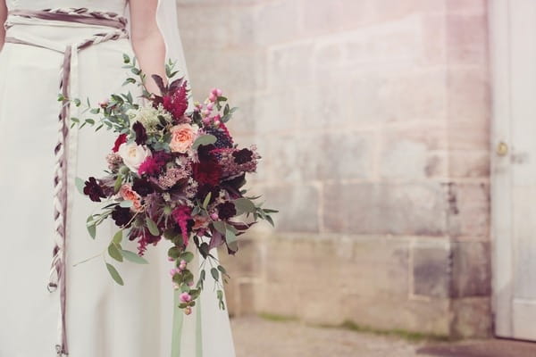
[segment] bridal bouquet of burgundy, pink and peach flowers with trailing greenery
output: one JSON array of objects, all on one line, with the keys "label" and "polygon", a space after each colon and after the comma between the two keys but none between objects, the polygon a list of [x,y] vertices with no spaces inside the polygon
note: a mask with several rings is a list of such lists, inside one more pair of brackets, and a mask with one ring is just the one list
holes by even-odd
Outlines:
[{"label": "bridal bouquet of burgundy, pink and peach flowers with trailing greenery", "polygon": [[[167,83],[156,75],[160,94],[147,91],[146,76],[137,67],[136,59],[124,55],[125,68],[135,78],[125,84],[142,87],[146,104],[135,103],[130,92],[113,94],[105,103],[84,112],[98,119],[71,118],[72,125],[89,125],[96,130],[105,128],[117,133],[113,148],[105,158],[107,170],[101,178],[76,179],[80,192],[95,202],[104,202],[100,212],[88,217],[91,237],[96,227],[112,219],[118,227],[107,247],[108,255],[117,262],[123,260],[147,263],[143,258],[149,245],[162,239],[171,242],[168,259],[172,262],[172,283],[180,289],[180,305],[191,312],[205,283],[205,269],[194,274],[188,268],[197,249],[211,265],[210,275],[218,286],[217,296],[222,309],[222,282],[226,270],[211,254],[225,245],[228,253],[237,253],[237,237],[257,220],[273,225],[271,213],[259,196],[247,196],[246,174],[255,172],[261,156],[255,145],[239,147],[225,123],[236,108],[230,108],[220,89],[213,89],[203,104],[188,110],[188,84],[174,79],[172,62],[166,65]],[[60,98],[64,100],[65,98]],[[72,100],[80,106],[79,99]],[[241,220],[239,219],[241,218]],[[121,246],[123,237],[136,241],[138,252]],[[105,262],[112,278],[123,285],[113,264]]]}]

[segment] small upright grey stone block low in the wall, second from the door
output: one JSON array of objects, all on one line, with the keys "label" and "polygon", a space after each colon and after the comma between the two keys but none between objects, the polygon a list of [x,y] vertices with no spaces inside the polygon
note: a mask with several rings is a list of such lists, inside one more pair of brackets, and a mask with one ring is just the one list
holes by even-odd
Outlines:
[{"label": "small upright grey stone block low in the wall, second from the door", "polygon": [[450,295],[450,245],[447,241],[415,242],[412,246],[413,295],[448,298]]}]

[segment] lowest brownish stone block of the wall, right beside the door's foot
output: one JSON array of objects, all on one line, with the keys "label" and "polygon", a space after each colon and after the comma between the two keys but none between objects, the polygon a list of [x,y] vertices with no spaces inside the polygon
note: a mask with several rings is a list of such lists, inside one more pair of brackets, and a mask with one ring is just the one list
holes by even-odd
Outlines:
[{"label": "lowest brownish stone block of the wall, right beside the door's foot", "polygon": [[451,336],[488,338],[492,336],[493,314],[489,297],[469,297],[452,301]]}]

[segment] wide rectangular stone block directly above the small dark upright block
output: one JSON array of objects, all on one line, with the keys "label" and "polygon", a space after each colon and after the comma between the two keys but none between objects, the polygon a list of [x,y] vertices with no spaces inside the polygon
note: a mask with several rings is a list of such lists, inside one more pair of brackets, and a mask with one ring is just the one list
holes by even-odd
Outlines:
[{"label": "wide rectangular stone block directly above the small dark upright block", "polygon": [[323,224],[330,232],[442,236],[447,202],[438,183],[327,184]]}]

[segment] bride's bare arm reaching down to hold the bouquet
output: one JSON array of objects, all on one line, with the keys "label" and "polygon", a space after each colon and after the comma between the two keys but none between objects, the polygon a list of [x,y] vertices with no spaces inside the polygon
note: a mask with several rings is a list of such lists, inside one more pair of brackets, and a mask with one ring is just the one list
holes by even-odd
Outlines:
[{"label": "bride's bare arm reaching down to hold the bouquet", "polygon": [[165,80],[165,44],[156,24],[157,5],[158,0],[130,0],[130,37],[141,71],[147,74],[147,90],[159,94],[151,78],[158,74]]}]

